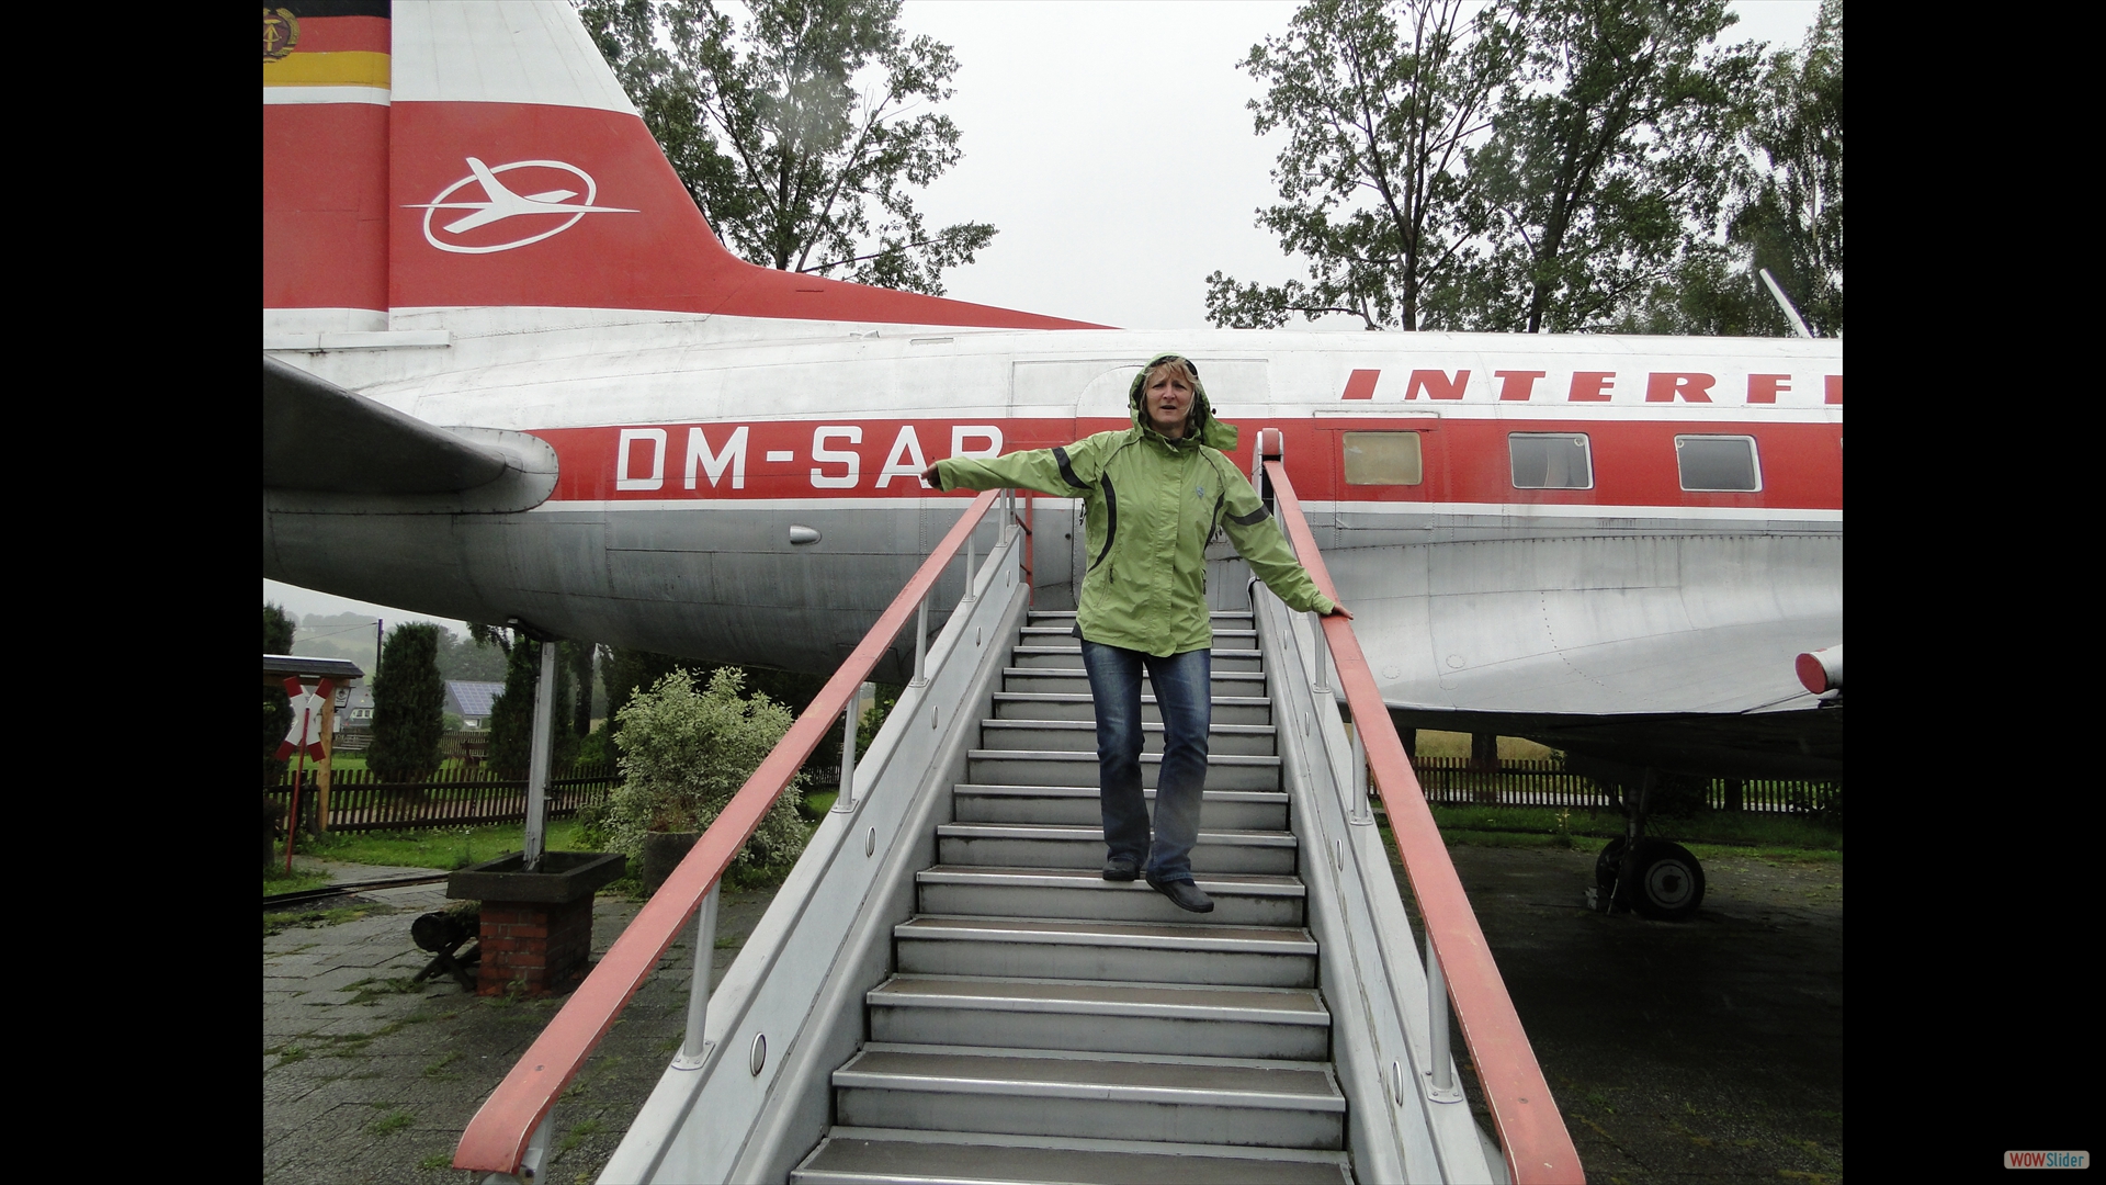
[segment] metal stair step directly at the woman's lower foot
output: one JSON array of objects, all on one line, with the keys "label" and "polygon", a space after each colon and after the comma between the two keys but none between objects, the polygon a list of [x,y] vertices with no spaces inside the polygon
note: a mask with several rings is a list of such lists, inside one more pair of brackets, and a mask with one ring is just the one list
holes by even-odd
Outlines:
[{"label": "metal stair step directly at the woman's lower foot", "polygon": [[1192,881],[1213,898],[1213,913],[1186,913],[1148,881],[1108,881],[1097,869],[937,865],[914,873],[922,913],[1089,921],[1205,917],[1224,926],[1302,926],[1308,890],[1295,877],[1205,873]]}]

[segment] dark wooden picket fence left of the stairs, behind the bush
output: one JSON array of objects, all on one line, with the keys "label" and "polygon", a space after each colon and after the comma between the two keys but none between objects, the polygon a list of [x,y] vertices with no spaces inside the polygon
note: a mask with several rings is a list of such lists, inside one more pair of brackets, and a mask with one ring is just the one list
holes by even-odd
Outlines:
[{"label": "dark wooden picket fence left of the stairs, behind the bush", "polygon": [[[548,816],[569,818],[579,808],[607,801],[621,784],[613,765],[571,765],[556,770],[548,784]],[[263,791],[291,810],[293,772]],[[299,814],[314,818],[314,770],[299,793]],[[409,831],[417,827],[482,827],[526,820],[526,780],[499,778],[484,770],[446,772],[428,782],[381,782],[373,770],[337,770],[329,780],[331,831]]]}]

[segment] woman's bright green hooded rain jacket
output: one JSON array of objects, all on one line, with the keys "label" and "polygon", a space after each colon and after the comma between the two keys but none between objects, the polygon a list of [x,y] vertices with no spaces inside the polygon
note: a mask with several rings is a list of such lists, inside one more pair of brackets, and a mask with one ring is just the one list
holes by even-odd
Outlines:
[{"label": "woman's bright green hooded rain jacket", "polygon": [[1280,601],[1329,614],[1333,601],[1295,561],[1249,479],[1221,455],[1236,447],[1236,426],[1213,417],[1198,375],[1192,430],[1184,439],[1171,441],[1148,422],[1141,384],[1169,356],[1152,358],[1133,375],[1127,392],[1133,428],[994,460],[941,460],[935,464],[939,489],[1026,487],[1082,498],[1089,574],[1076,624],[1095,643],[1156,656],[1211,647],[1207,540],[1215,527],[1228,529],[1236,552]]}]

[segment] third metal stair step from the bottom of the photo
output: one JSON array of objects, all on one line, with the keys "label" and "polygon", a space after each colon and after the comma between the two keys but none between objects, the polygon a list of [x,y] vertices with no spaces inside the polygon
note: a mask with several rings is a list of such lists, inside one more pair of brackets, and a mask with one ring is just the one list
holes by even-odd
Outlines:
[{"label": "third metal stair step from the bottom of the photo", "polygon": [[899,974],[863,1002],[870,1040],[1125,1054],[1323,1061],[1310,989]]}]

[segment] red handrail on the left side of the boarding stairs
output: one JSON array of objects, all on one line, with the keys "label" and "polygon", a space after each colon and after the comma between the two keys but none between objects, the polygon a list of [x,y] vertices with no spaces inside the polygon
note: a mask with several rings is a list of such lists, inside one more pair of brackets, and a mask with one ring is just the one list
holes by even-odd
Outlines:
[{"label": "red handrail on the left side of the boarding stairs", "polygon": [[[592,968],[592,974],[564,1002],[556,1018],[541,1031],[541,1037],[526,1048],[526,1056],[497,1084],[497,1090],[482,1103],[476,1118],[468,1122],[468,1130],[461,1132],[461,1143],[453,1149],[455,1168],[518,1174],[520,1160],[526,1155],[526,1143],[533,1139],[535,1128],[541,1126],[550,1107],[556,1105],[556,1096],[571,1084],[571,1077],[585,1065],[592,1050],[600,1046],[600,1040],[607,1037],[607,1029],[615,1025],[615,1016],[636,995],[636,989],[644,985],[644,976],[651,974],[651,968],[672,947],[680,928],[695,917],[695,909],[701,907],[701,898],[708,896],[710,886],[724,875],[739,848],[760,827],[760,818],[775,803],[775,797],[781,795],[790,778],[811,757],[813,746],[819,744],[842,711],[847,711],[849,696],[870,677],[870,668],[876,666],[891,641],[906,628],[908,616],[935,588],[943,567],[958,555],[967,536],[979,525],[979,519],[986,517],[998,496],[1000,489],[990,489],[965,508],[965,514],[943,536],[943,542],[929,552],[929,559],[922,561],[914,578],[899,590],[899,597],[885,609],[878,624],[870,626],[855,654],[828,679],[819,696],[804,708],[804,715],[790,725],[781,742],[760,761],[754,776],[746,778],[739,793],[724,803],[724,812],[701,833],[701,839],[680,860],[680,867],[665,877],[657,894],[651,896],[621,936],[615,938],[607,957]],[[973,574],[969,571],[967,588],[971,588],[971,580]],[[699,964],[695,974],[710,974],[708,957],[708,951],[697,953]]]}]

